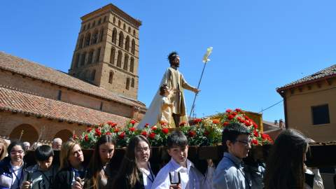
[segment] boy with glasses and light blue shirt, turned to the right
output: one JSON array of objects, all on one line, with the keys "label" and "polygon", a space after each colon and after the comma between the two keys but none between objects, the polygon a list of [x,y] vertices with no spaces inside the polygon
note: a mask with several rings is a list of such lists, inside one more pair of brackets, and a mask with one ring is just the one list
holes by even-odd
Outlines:
[{"label": "boy with glasses and light blue shirt, turned to the right", "polygon": [[249,134],[248,129],[239,123],[231,123],[224,128],[224,156],[213,176],[214,188],[251,188],[241,165],[242,159],[247,157],[251,149]]}]

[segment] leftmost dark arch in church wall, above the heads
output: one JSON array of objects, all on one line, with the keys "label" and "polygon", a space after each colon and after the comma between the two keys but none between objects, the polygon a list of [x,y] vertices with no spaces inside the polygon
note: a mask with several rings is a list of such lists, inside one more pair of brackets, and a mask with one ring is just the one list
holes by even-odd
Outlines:
[{"label": "leftmost dark arch in church wall, above the heads", "polygon": [[15,127],[12,132],[10,132],[10,140],[20,139],[21,132],[23,130],[23,134],[21,137],[21,141],[29,141],[30,144],[33,144],[38,139],[38,132],[35,127],[29,124],[22,124],[18,127]]}]

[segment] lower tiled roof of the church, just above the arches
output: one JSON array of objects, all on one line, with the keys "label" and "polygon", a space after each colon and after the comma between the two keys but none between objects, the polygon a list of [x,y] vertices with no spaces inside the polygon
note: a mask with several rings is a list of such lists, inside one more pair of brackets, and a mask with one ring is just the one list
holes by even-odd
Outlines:
[{"label": "lower tiled roof of the church, just above the arches", "polygon": [[15,113],[24,113],[36,117],[62,120],[83,125],[97,125],[113,121],[125,125],[129,118],[116,116],[111,113],[88,109],[65,102],[38,97],[33,94],[19,92],[0,87],[0,109]]}]

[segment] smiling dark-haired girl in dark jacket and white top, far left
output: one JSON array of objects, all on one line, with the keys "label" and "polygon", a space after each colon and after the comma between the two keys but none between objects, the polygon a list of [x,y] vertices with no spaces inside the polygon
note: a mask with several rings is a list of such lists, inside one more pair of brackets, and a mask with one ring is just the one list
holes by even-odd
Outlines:
[{"label": "smiling dark-haired girl in dark jacket and white top, far left", "polygon": [[25,148],[20,141],[13,141],[7,148],[8,156],[0,162],[0,188],[20,189],[25,177]]}]

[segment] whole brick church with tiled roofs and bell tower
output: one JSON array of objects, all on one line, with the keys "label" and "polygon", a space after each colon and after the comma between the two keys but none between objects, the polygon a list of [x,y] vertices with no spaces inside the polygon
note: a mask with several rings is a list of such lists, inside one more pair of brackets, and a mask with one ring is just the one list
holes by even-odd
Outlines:
[{"label": "whole brick church with tiled roofs and bell tower", "polygon": [[0,137],[34,142],[141,120],[139,26],[109,4],[84,15],[68,73],[0,52]]}]

